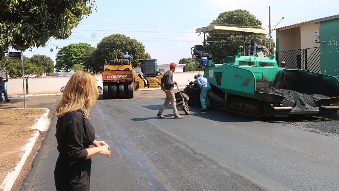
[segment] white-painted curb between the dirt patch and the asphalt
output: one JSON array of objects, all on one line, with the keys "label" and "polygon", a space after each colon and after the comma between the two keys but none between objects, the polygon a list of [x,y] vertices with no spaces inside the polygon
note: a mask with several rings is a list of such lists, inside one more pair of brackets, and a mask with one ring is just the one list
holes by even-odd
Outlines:
[{"label": "white-painted curb between the dirt patch and the asphalt", "polygon": [[[41,108],[31,108],[31,109],[41,109]],[[45,108],[46,109],[46,108]],[[42,116],[38,119],[38,121],[32,126],[31,129],[36,129],[38,131],[34,131],[31,138],[28,139],[26,145],[23,147],[21,156],[21,160],[18,165],[9,172],[3,182],[1,183],[0,190],[2,191],[10,191],[14,185],[15,180],[18,178],[23,165],[25,164],[29,154],[31,154],[35,142],[38,140],[40,131],[46,131],[49,128],[50,120],[47,118],[49,114],[49,109],[46,109],[46,112],[42,114]]]}]

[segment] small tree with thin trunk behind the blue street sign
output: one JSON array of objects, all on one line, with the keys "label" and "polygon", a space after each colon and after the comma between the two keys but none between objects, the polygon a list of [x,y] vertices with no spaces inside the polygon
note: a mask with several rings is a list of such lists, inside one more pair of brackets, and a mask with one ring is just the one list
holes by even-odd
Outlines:
[{"label": "small tree with thin trunk behind the blue street sign", "polygon": [[[22,61],[21,60],[7,60],[7,70],[11,78],[22,77]],[[31,62],[30,58],[23,56],[23,78],[26,81],[26,94],[28,92],[28,77],[36,75],[37,77],[42,76],[44,70],[41,66]]]}]

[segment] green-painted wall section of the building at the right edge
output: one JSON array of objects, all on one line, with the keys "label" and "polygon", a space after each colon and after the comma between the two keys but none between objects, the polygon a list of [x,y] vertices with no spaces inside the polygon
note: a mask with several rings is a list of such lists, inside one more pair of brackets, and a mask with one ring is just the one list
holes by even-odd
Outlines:
[{"label": "green-painted wall section of the building at the right edge", "polygon": [[320,21],[320,71],[339,79],[339,18]]}]

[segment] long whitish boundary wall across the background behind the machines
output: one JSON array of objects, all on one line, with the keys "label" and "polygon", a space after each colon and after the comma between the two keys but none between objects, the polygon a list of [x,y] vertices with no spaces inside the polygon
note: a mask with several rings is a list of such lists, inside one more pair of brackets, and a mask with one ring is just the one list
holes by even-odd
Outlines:
[{"label": "long whitish boundary wall across the background behind the machines", "polygon": [[[173,80],[178,83],[179,87],[188,85],[188,81],[194,81],[194,76],[201,72],[174,72]],[[95,78],[102,80],[102,75],[94,75]],[[66,85],[71,76],[47,76],[47,77],[30,77],[28,78],[29,94],[52,94],[60,93],[60,88]],[[26,90],[26,81],[24,81]],[[23,95],[22,78],[9,78],[5,83],[8,95]],[[26,93],[26,91],[25,91]]]}]

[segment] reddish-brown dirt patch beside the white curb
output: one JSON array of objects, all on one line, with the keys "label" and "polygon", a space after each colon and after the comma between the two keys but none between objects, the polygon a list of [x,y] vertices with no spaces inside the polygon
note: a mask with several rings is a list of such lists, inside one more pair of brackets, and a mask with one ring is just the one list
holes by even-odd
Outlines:
[{"label": "reddish-brown dirt patch beside the white curb", "polygon": [[33,132],[37,131],[31,127],[45,112],[45,109],[0,110],[0,182],[21,160],[23,147]]}]

